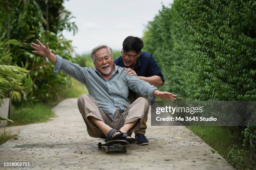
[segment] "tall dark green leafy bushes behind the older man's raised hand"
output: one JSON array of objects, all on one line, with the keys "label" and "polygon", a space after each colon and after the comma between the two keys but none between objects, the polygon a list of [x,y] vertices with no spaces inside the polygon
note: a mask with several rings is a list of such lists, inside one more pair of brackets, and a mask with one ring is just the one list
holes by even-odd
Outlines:
[{"label": "tall dark green leafy bushes behind the older man's raised hand", "polygon": [[23,79],[28,86],[24,90],[23,101],[46,102],[56,100],[61,91],[70,86],[70,78],[60,74],[54,76],[53,65],[44,57],[31,53],[30,42],[40,39],[49,42],[56,54],[71,60],[73,48],[66,40],[63,30],[77,31],[77,26],[70,22],[72,15],[64,9],[64,0],[2,0],[0,1],[0,42],[16,39],[19,45],[10,45],[12,53],[10,64],[29,70]]}]

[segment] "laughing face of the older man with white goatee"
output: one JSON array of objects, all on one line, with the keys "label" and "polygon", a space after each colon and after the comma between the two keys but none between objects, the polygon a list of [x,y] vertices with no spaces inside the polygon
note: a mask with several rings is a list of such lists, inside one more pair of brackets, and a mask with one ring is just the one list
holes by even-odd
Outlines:
[{"label": "laughing face of the older man with white goatee", "polygon": [[110,50],[108,50],[108,48],[101,48],[95,52],[94,56],[94,65],[96,70],[98,70],[102,75],[109,75],[110,73],[112,74],[114,60],[111,56]]}]

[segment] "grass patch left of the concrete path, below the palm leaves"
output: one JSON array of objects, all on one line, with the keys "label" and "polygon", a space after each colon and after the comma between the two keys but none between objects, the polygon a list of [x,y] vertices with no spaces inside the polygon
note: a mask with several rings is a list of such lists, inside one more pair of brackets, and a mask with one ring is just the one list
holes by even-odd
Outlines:
[{"label": "grass patch left of the concrete path, below the palm leaves", "polygon": [[54,117],[51,107],[46,104],[26,104],[15,108],[15,112],[10,117],[14,123],[8,122],[8,126],[27,125],[31,123],[46,122]]}]

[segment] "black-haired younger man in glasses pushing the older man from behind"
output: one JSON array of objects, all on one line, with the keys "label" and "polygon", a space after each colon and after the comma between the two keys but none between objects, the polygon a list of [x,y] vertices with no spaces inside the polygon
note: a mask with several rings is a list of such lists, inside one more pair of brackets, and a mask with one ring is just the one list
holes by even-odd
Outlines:
[{"label": "black-haired younger man in glasses pushing the older man from behind", "polygon": [[[121,56],[114,60],[115,65],[125,67],[127,75],[136,75],[140,80],[144,80],[151,85],[160,86],[164,83],[164,76],[151,53],[142,52],[143,41],[138,37],[128,36],[123,41],[123,49]],[[134,102],[139,94],[129,91],[128,99]],[[145,121],[148,116],[146,115]],[[144,135],[146,133],[146,123],[141,125],[141,129],[135,131],[136,143],[138,145],[148,145],[148,139]]]}]

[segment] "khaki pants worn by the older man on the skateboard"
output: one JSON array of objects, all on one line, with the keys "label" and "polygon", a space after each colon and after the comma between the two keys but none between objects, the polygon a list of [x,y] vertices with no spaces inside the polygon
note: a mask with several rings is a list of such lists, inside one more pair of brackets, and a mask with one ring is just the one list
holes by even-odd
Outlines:
[{"label": "khaki pants worn by the older man on the skateboard", "polygon": [[[128,132],[128,134],[131,135],[133,131],[138,131],[141,129],[141,124],[145,123],[143,122],[144,117],[148,114],[148,109],[149,109],[148,100],[146,100],[143,97],[139,97],[129,107],[127,107],[125,112],[123,112],[123,115],[119,116],[119,111],[117,110],[114,115],[114,120],[111,120],[98,107],[97,101],[88,94],[81,95],[77,100],[77,105],[80,113],[82,114],[84,122],[86,124],[87,132],[93,138],[105,137],[105,135],[102,133],[100,128],[98,128],[92,123],[90,118],[88,118],[89,116],[102,120],[111,128],[114,128],[117,130],[122,128],[123,125],[127,123],[137,121],[136,125],[134,125],[133,128],[131,128],[131,130]],[[146,129],[142,128],[142,131],[140,133],[143,133],[143,131],[145,133],[145,130]]]}]

